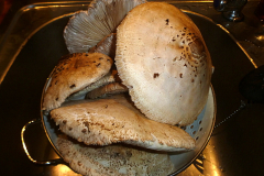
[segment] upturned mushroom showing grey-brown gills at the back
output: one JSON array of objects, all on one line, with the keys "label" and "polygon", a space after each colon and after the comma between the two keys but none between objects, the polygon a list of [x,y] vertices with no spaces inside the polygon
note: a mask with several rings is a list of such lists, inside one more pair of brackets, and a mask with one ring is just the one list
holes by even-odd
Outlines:
[{"label": "upturned mushroom showing grey-brown gills at the back", "polygon": [[94,0],[88,11],[78,11],[64,30],[69,53],[85,53],[117,30],[127,13],[145,0]]}]

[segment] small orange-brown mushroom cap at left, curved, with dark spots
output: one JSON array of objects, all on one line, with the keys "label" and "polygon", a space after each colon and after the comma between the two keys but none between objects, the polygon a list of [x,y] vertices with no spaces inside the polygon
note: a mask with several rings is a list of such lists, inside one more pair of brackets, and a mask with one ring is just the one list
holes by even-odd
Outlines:
[{"label": "small orange-brown mushroom cap at left, curved, with dark spots", "polygon": [[112,58],[101,53],[75,53],[61,58],[43,96],[42,110],[58,108],[65,99],[110,72]]}]

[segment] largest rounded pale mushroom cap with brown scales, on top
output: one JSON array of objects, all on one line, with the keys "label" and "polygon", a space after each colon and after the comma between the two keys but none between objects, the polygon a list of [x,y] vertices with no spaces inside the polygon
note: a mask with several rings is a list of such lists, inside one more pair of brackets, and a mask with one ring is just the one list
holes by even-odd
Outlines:
[{"label": "largest rounded pale mushroom cap with brown scales, on top", "polygon": [[165,2],[135,7],[117,31],[116,65],[135,106],[150,119],[193,123],[204,109],[212,64],[195,23]]}]

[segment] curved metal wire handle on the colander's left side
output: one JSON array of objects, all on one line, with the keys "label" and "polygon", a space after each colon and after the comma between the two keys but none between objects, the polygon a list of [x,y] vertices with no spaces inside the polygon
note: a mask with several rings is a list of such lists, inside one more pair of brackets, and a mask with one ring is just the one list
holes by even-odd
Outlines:
[{"label": "curved metal wire handle on the colander's left side", "polygon": [[25,154],[28,155],[28,157],[30,158],[31,162],[33,162],[33,163],[35,163],[35,164],[38,164],[38,165],[57,165],[57,164],[63,164],[64,162],[63,162],[62,158],[56,158],[56,160],[51,160],[51,161],[46,161],[46,162],[41,162],[41,161],[36,161],[36,160],[34,160],[34,158],[31,157],[31,155],[30,155],[30,153],[29,153],[29,151],[28,151],[28,148],[26,148],[25,141],[24,141],[24,132],[25,132],[25,130],[26,130],[30,125],[32,125],[32,124],[38,124],[38,123],[41,123],[41,119],[34,119],[34,120],[28,122],[28,123],[23,127],[23,129],[22,129],[22,131],[21,131],[21,141],[22,141],[22,145],[23,145],[23,148],[24,148]]}]

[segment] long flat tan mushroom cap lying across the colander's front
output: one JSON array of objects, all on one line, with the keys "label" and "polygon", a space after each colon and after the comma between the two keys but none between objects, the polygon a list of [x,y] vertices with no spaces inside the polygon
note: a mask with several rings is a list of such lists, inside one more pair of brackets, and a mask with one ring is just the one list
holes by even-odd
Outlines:
[{"label": "long flat tan mushroom cap lying across the colander's front", "polygon": [[183,129],[146,119],[124,95],[74,102],[51,111],[59,130],[87,145],[127,143],[164,152],[195,148]]}]

